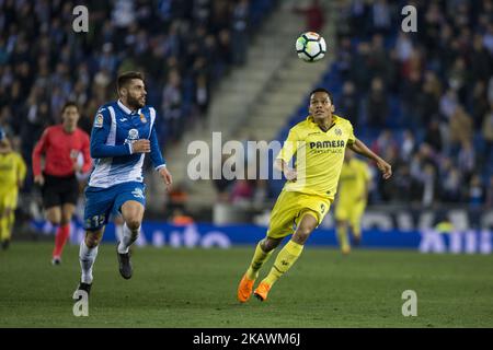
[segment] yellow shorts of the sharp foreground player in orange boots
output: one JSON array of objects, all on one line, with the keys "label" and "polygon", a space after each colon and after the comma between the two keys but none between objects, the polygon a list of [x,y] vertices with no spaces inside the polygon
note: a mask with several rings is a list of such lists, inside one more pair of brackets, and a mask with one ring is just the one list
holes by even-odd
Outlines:
[{"label": "yellow shorts of the sharp foreground player in orange boots", "polygon": [[283,238],[293,234],[306,213],[311,213],[320,225],[331,203],[329,198],[321,196],[283,190],[271,212],[267,236]]}]

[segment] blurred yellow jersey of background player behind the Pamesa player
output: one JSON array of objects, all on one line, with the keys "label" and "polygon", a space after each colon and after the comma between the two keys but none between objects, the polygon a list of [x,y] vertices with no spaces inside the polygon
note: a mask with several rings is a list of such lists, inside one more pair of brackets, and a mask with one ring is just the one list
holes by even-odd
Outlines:
[{"label": "blurred yellow jersey of background player behind the Pamesa player", "polygon": [[[364,161],[353,158],[348,162],[344,162],[339,180],[340,205],[354,202],[364,196],[370,177],[369,167]],[[366,202],[366,198],[364,202]]]}]

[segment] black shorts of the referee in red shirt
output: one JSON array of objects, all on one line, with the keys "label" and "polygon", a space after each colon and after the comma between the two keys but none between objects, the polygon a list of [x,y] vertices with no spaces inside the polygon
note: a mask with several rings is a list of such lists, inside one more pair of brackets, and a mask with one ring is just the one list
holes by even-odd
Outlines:
[{"label": "black shorts of the referee in red shirt", "polygon": [[60,177],[43,174],[45,184],[42,187],[43,207],[45,209],[66,203],[77,205],[79,182],[76,175]]}]

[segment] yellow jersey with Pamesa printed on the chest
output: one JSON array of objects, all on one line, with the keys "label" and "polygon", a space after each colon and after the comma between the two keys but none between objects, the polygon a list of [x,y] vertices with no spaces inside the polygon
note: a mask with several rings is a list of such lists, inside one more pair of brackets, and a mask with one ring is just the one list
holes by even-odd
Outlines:
[{"label": "yellow jersey with Pamesa printed on the chest", "polygon": [[334,199],[345,148],[356,138],[349,120],[332,115],[332,121],[323,131],[308,116],[289,130],[277,159],[289,163],[296,155],[297,180],[286,182],[284,190]]}]

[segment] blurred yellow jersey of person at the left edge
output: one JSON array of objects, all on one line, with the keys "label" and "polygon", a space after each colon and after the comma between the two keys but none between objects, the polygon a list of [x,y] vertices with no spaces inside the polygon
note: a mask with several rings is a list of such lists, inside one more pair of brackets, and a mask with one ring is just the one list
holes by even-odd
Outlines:
[{"label": "blurred yellow jersey of person at the left edge", "polygon": [[19,189],[19,182],[25,178],[26,166],[16,152],[0,153],[0,192]]}]

